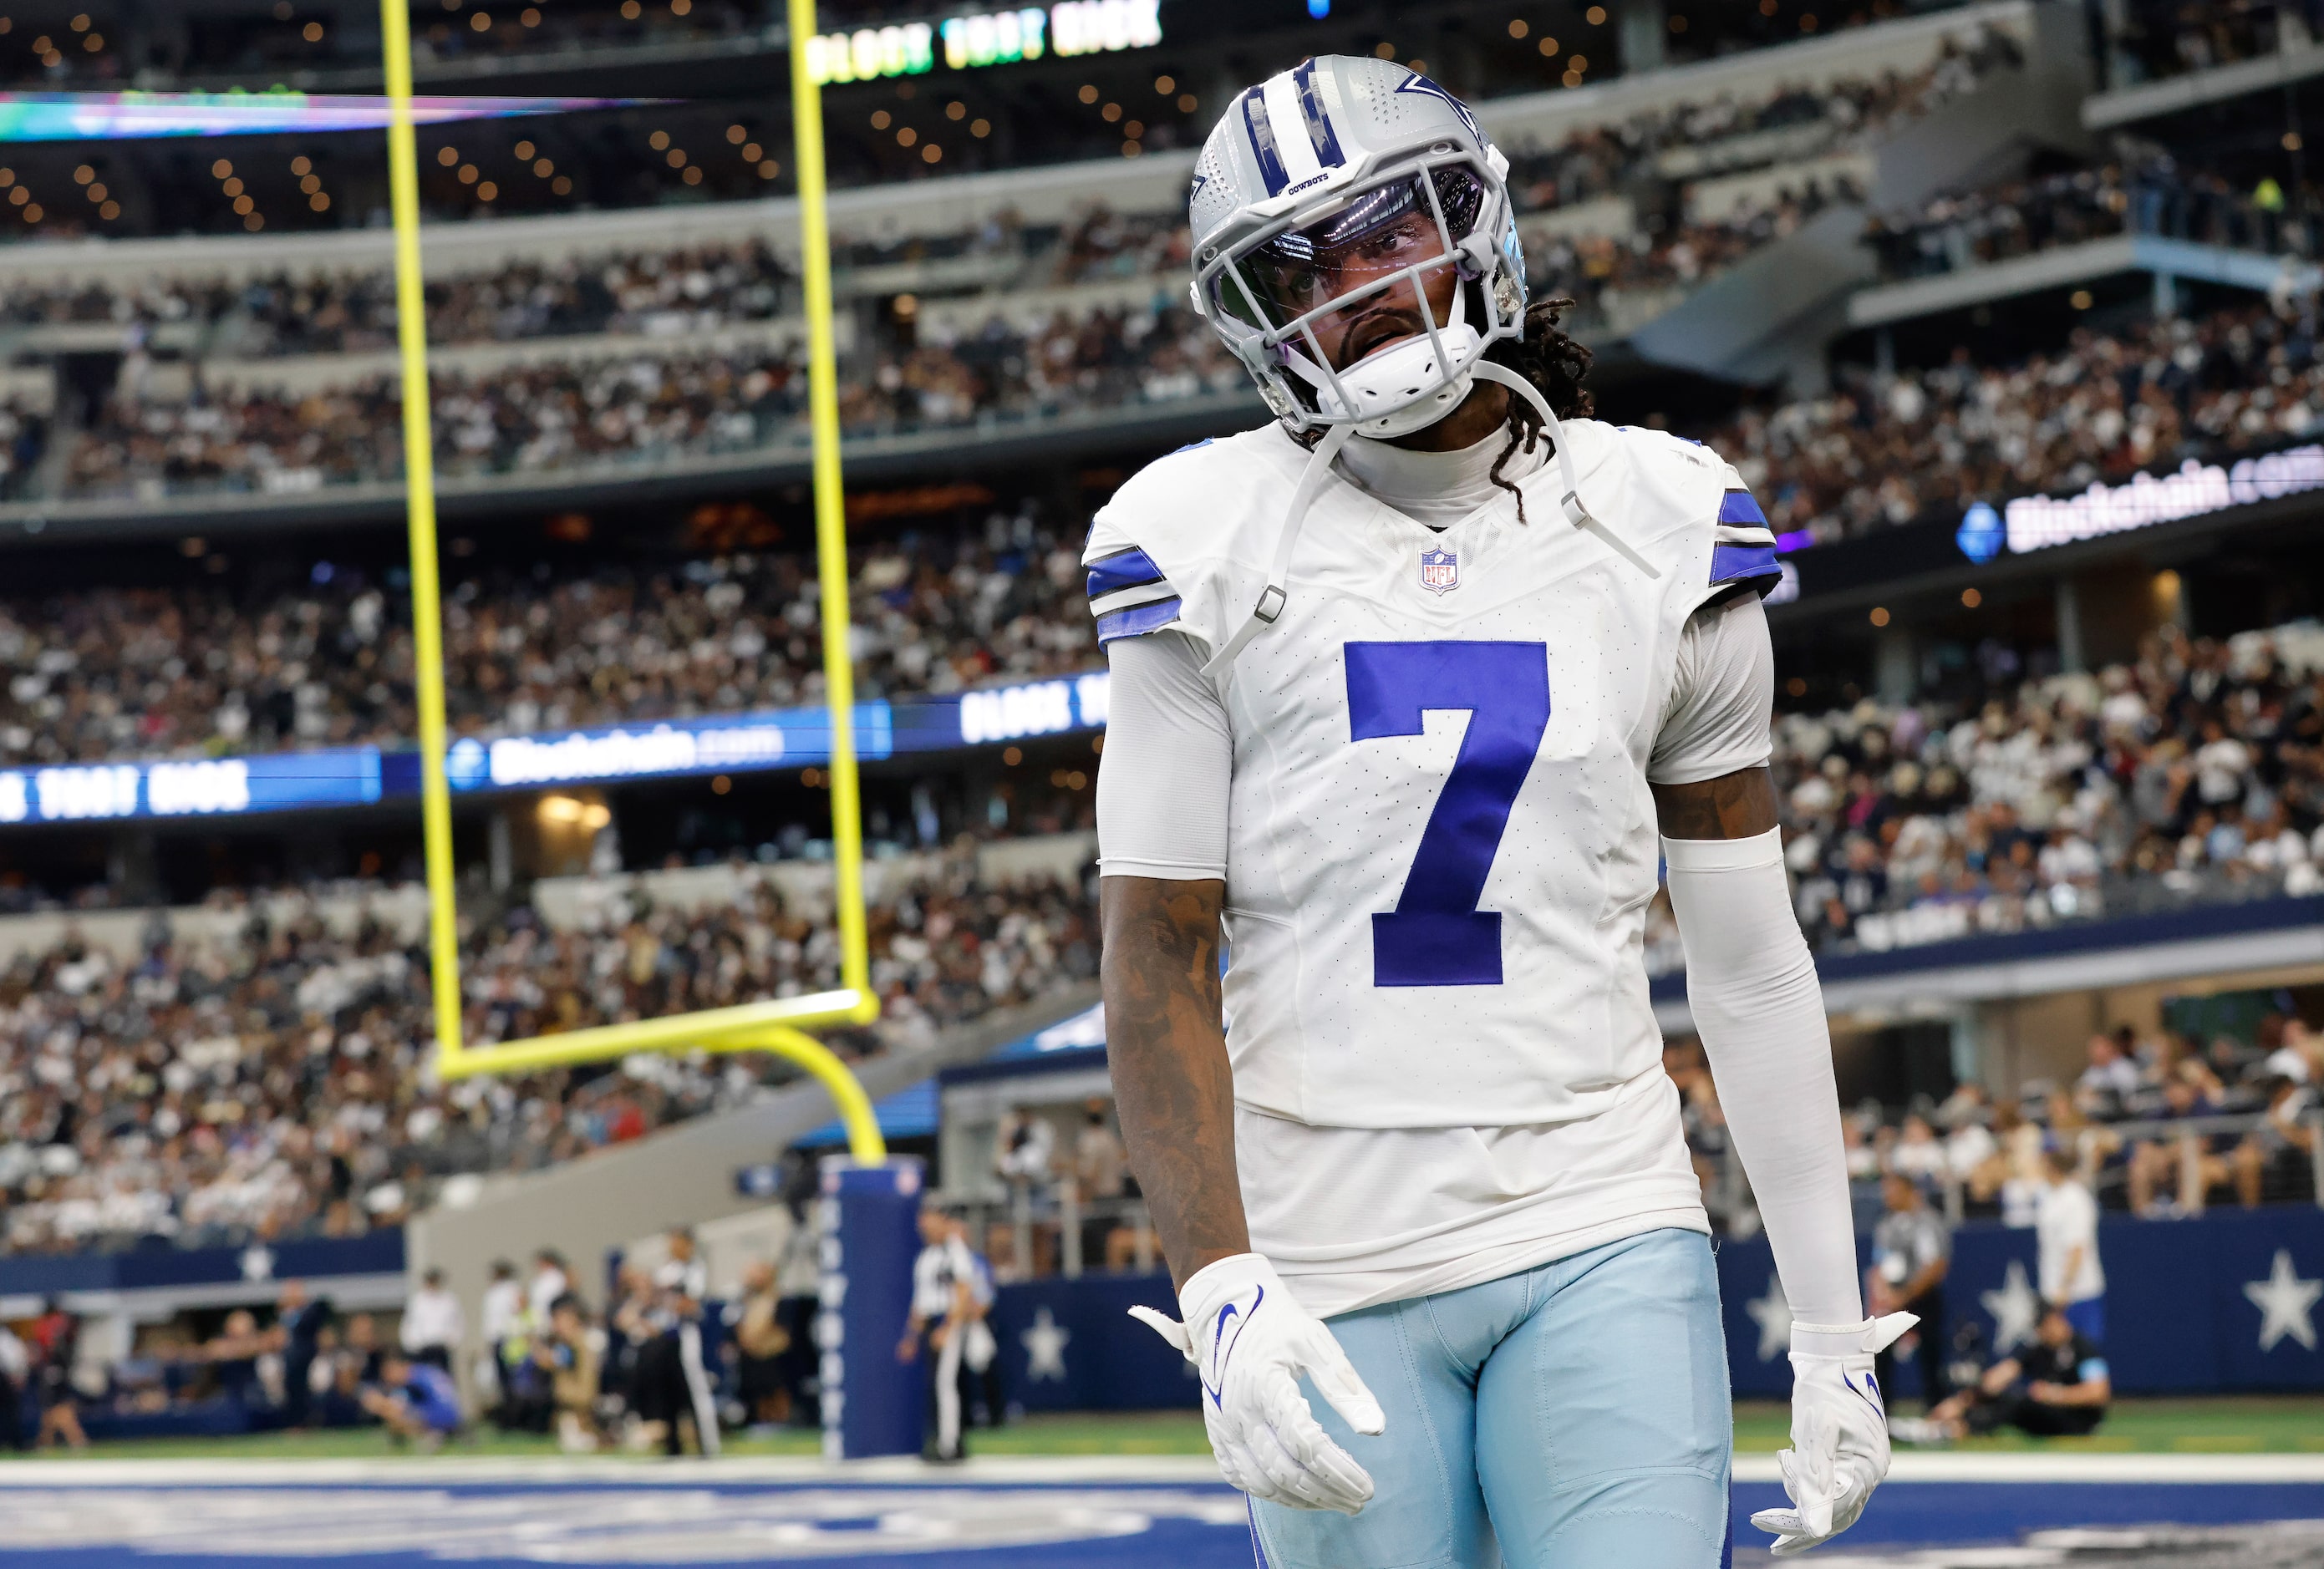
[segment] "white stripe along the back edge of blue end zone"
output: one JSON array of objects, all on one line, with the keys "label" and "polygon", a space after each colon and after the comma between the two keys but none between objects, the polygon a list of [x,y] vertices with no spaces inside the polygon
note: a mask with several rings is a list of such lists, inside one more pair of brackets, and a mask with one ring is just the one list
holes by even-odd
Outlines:
[{"label": "white stripe along the back edge of blue end zone", "polygon": [[[1773,1455],[1736,1455],[1734,1478],[1780,1483]],[[1218,1483],[1208,1455],[995,1455],[957,1467],[930,1467],[916,1457],[892,1460],[783,1460],[739,1457],[662,1464],[639,1457],[569,1460],[26,1460],[0,1464],[0,1492],[9,1488],[274,1488],[274,1485],[367,1485],[439,1488],[453,1483],[507,1488],[560,1488],[572,1483],[621,1483],[630,1488],[702,1488],[718,1483],[774,1485],[1055,1485],[1055,1483]],[[1889,1485],[1910,1483],[2317,1483],[2324,1455],[1922,1455],[1901,1453]],[[1222,1485],[1222,1483],[1220,1483]]]}]

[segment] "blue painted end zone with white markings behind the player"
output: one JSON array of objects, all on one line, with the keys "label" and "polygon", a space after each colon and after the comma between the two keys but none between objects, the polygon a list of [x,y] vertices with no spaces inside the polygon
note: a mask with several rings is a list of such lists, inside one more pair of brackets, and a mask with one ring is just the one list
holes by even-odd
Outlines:
[{"label": "blue painted end zone with white markings behind the player", "polygon": [[[2050,1457],[2027,1457],[2029,1469]],[[2092,1457],[2099,1460],[2099,1457]],[[2133,1457],[2140,1460],[2140,1457]],[[2164,1457],[2152,1457],[2164,1460]],[[2059,1527],[2222,1527],[2324,1518],[2324,1481],[1892,1481],[1841,1553],[1975,1548]],[[2143,1467],[2152,1474],[2157,1467]],[[786,1564],[797,1569],[1253,1569],[1243,1499],[1218,1483],[1016,1483],[930,1471],[925,1481],[700,1481],[683,1467],[630,1481],[456,1481],[144,1488],[0,1469],[0,1569],[532,1569],[558,1564]],[[623,1476],[630,1471],[630,1476]],[[1181,1469],[1181,1474],[1185,1474]],[[2054,1471],[2052,1471],[2054,1476]],[[81,1495],[79,1499],[74,1495]],[[265,1499],[265,1506],[260,1504]],[[514,1499],[530,1506],[509,1509]],[[1734,1490],[1731,1557],[1764,1562],[1750,1513],[1773,1483]],[[256,1509],[253,1509],[256,1506]],[[906,1525],[897,1518],[909,1516]],[[63,1523],[63,1525],[60,1525]],[[1011,1534],[1020,1539],[1009,1541]],[[1034,1541],[1027,1536],[1048,1536]],[[342,1548],[344,1541],[344,1548]],[[953,1546],[918,1546],[951,1541]],[[974,1543],[974,1546],[971,1546]],[[530,1550],[528,1550],[530,1548]],[[2157,1560],[2168,1562],[2168,1560]],[[2210,1560],[2205,1560],[2210,1562]]]}]

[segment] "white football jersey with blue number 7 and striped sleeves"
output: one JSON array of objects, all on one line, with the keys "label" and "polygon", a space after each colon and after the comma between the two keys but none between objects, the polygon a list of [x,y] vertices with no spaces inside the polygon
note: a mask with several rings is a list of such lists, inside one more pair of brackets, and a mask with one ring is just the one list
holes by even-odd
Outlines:
[{"label": "white football jersey with blue number 7 and striped sleeves", "polygon": [[[1432,530],[1332,477],[1278,621],[1218,679],[1234,732],[1227,1048],[1236,1102],[1325,1127],[1506,1127],[1601,1111],[1659,1062],[1641,962],[1648,758],[1687,618],[1776,581],[1736,472],[1566,421],[1559,465]],[[1097,514],[1099,642],[1250,616],[1306,449],[1281,428],[1148,465]]]}]

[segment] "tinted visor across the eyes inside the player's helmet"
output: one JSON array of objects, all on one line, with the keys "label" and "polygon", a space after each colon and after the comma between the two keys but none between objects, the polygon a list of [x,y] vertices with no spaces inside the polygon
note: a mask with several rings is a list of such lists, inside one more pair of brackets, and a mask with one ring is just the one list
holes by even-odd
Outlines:
[{"label": "tinted visor across the eyes inside the player's helmet", "polygon": [[1360,191],[1329,216],[1253,246],[1232,270],[1248,284],[1248,298],[1232,277],[1220,277],[1218,302],[1250,325],[1287,328],[1406,267],[1446,260],[1483,207],[1485,186],[1457,167]]}]

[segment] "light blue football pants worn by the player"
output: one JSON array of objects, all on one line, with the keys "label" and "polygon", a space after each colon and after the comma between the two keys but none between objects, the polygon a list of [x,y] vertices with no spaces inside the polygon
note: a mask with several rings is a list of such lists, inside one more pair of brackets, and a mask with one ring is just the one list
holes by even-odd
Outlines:
[{"label": "light blue football pants worn by the player", "polygon": [[1253,1504],[1264,1569],[1724,1569],[1727,1339],[1710,1239],[1659,1230],[1329,1320],[1387,1413],[1364,1513]]}]

